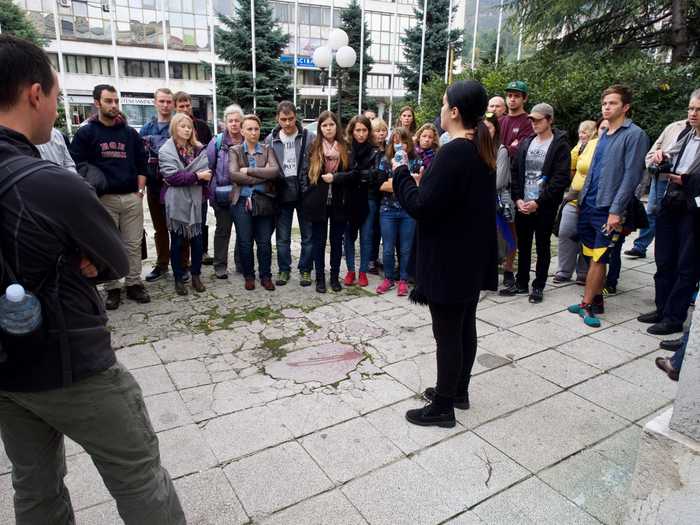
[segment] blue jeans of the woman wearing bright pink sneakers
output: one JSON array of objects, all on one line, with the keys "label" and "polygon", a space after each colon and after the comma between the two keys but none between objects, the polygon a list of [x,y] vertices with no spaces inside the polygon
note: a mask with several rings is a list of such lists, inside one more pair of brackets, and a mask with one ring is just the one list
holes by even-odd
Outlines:
[{"label": "blue jeans of the woman wearing bright pink sneakers", "polygon": [[[408,263],[411,258],[413,236],[416,232],[416,221],[402,208],[382,206],[379,212],[379,224],[382,228],[382,242],[384,245],[384,275],[387,279],[402,281],[408,279]],[[396,241],[399,240],[399,270],[400,275],[394,275],[394,250]]]}]

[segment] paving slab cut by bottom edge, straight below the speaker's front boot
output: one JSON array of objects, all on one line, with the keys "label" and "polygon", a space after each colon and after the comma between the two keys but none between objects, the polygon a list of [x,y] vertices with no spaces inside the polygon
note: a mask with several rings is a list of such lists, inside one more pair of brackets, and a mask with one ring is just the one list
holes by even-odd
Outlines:
[{"label": "paving slab cut by bottom edge, straight below the speaker's front boot", "polygon": [[355,479],[341,491],[372,525],[434,525],[467,508],[460,490],[410,459]]}]

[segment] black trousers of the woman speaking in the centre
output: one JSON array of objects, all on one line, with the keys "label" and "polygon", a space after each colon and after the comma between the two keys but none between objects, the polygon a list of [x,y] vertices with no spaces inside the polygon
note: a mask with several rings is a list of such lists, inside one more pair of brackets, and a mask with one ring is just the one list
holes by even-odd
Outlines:
[{"label": "black trousers of the woman speaking in the centre", "polygon": [[437,343],[438,394],[463,396],[476,358],[476,306],[478,294],[465,303],[430,303],[433,335]]}]

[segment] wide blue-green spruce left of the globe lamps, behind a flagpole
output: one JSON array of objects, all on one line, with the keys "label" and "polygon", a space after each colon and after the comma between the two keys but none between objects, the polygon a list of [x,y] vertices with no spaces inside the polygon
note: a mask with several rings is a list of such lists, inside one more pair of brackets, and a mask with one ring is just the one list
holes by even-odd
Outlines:
[{"label": "wide blue-green spruce left of the globe lamps, behind a flagpole", "polygon": [[[240,0],[233,16],[219,15],[224,27],[216,29],[216,51],[233,67],[233,73],[217,75],[219,107],[237,103],[253,110],[253,59],[250,0]],[[256,113],[263,129],[274,127],[277,102],[293,96],[290,67],[280,61],[289,35],[282,33],[267,0],[255,0]]]}]

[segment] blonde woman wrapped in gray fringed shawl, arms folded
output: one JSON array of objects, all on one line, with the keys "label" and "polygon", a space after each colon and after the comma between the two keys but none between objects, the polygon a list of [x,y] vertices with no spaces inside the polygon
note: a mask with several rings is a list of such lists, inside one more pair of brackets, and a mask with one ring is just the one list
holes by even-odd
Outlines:
[{"label": "blonde woman wrapped in gray fringed shawl, arms folded", "polygon": [[[209,185],[211,171],[202,145],[197,142],[192,119],[184,113],[170,121],[170,138],[160,148],[158,162],[165,182],[165,218],[170,231],[170,264],[175,275],[175,291],[187,295],[183,281],[185,269],[181,254],[189,241],[192,254],[192,288],[205,290],[202,272],[202,201],[204,187]],[[161,196],[162,198],[162,196]]]}]

